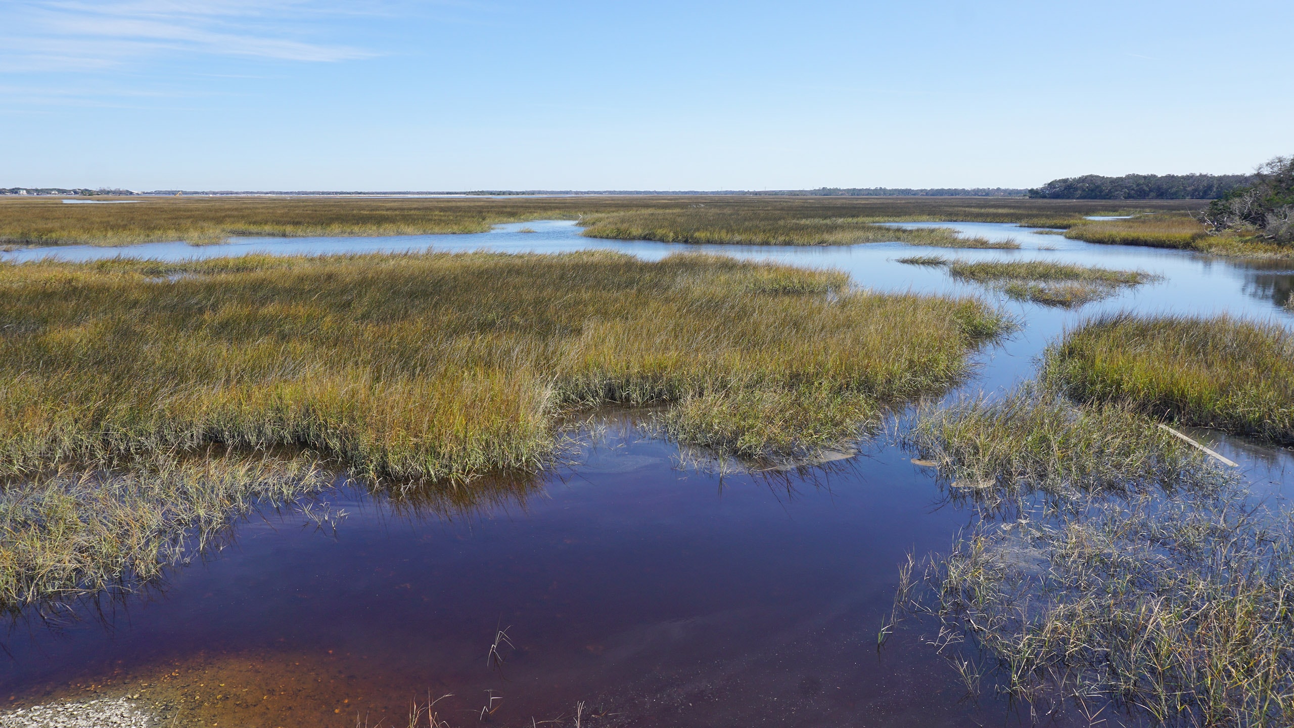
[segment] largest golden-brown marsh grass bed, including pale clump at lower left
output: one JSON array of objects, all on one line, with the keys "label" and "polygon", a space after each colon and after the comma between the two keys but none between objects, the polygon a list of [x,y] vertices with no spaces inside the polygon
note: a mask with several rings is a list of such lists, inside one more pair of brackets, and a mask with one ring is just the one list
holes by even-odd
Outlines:
[{"label": "largest golden-brown marsh grass bed, including pale clump at lower left", "polygon": [[1011,326],[973,299],[708,255],[38,262],[0,266],[0,288],[10,609],[155,576],[320,468],[413,508],[489,501],[607,404],[796,457],[942,391]]}]

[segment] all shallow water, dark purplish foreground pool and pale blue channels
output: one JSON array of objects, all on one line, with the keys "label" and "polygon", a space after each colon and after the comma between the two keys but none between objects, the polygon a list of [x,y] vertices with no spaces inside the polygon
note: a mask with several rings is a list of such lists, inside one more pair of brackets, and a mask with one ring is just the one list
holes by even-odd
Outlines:
[{"label": "all shallow water, dark purplish foreground pool and pale blue channels", "polygon": [[[841,268],[877,290],[973,295],[991,294],[893,259],[1039,258],[1165,276],[1079,311],[996,299],[1025,329],[980,355],[978,376],[961,387],[970,392],[1031,377],[1048,341],[1101,311],[1294,320],[1281,308],[1294,289],[1290,264],[1097,246],[1003,224],[930,225],[1014,238],[1022,250],[697,247],[585,238],[572,223],[546,222],[481,234],[75,246],[5,259],[427,247],[659,259],[705,250]],[[1238,461],[1262,492],[1286,495],[1294,484],[1290,451],[1190,434]],[[488,706],[497,710],[487,720],[499,725],[571,724],[578,701],[604,714],[585,712],[585,725],[1027,723],[996,698],[961,700],[956,674],[919,626],[876,649],[905,554],[942,551],[973,522],[897,448],[877,442],[824,468],[719,477],[686,466],[677,447],[629,421],[613,418],[590,439],[571,466],[483,483],[492,497],[471,508],[445,494],[391,500],[339,483],[318,496],[347,513],[335,531],[299,509],[258,514],[226,548],[148,595],[83,606],[79,619],[58,623],[28,615],[4,639],[0,684],[13,703],[87,692],[182,698],[201,705],[186,715],[204,725],[392,725],[428,693],[453,693],[437,703],[452,725],[479,723]],[[503,663],[492,666],[498,630],[515,646],[499,643]]]}]

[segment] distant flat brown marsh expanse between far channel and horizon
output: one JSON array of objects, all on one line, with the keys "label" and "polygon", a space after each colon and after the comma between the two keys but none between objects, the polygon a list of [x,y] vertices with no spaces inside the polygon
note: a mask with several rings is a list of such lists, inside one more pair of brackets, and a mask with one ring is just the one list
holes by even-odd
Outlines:
[{"label": "distant flat brown marsh expanse between far channel and horizon", "polygon": [[[664,242],[844,245],[902,240],[967,246],[945,231],[885,222],[969,220],[1069,228],[1083,216],[1192,211],[1200,201],[804,197],[142,198],[136,205],[0,199],[0,244],[220,242],[232,236],[391,236],[485,232],[506,222],[578,220],[593,237]],[[973,242],[970,242],[974,246]]]}]

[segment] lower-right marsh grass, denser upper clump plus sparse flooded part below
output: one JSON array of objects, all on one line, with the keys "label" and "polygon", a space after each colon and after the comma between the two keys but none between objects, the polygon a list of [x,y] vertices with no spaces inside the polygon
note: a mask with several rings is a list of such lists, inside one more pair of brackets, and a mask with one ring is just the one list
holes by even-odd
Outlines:
[{"label": "lower-right marsh grass, denser upper clump plus sparse flooded part below", "polygon": [[981,514],[924,588],[901,573],[941,652],[969,640],[1002,689],[1052,714],[1113,701],[1156,724],[1288,723],[1294,523],[1237,475],[1135,408],[1038,383],[924,407],[906,444]]}]

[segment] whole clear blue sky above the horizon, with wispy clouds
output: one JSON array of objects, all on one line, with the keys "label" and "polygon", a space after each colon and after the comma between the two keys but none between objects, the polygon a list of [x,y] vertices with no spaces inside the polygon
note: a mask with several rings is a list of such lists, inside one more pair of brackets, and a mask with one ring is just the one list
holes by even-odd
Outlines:
[{"label": "whole clear blue sky above the horizon, with wispy clouds", "polygon": [[1294,153],[1294,3],[3,0],[0,187],[1030,187]]}]

